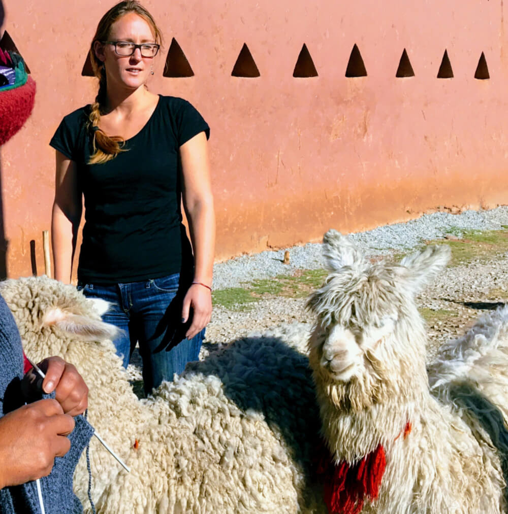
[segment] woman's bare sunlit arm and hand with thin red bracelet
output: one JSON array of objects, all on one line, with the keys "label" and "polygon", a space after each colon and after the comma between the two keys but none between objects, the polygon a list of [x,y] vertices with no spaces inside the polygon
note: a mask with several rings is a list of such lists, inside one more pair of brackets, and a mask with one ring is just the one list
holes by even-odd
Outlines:
[{"label": "woman's bare sunlit arm and hand with thin red bracelet", "polygon": [[[215,213],[208,147],[204,132],[200,132],[180,146],[182,160],[183,204],[189,222],[190,240],[194,250],[194,281],[212,286],[215,253]],[[194,315],[187,339],[194,337],[212,316],[212,292],[201,284],[193,284],[185,295],[182,321],[187,321],[189,308]]]}]

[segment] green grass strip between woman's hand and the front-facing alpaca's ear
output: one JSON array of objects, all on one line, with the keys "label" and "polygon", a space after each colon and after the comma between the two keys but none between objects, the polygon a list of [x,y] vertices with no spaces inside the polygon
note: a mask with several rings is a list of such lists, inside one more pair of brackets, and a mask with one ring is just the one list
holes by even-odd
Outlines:
[{"label": "green grass strip between woman's hand and the front-facing alpaca's ear", "polygon": [[230,310],[245,310],[249,308],[250,303],[261,299],[304,298],[323,284],[327,274],[324,269],[299,269],[292,275],[253,280],[244,287],[215,290],[212,302]]}]

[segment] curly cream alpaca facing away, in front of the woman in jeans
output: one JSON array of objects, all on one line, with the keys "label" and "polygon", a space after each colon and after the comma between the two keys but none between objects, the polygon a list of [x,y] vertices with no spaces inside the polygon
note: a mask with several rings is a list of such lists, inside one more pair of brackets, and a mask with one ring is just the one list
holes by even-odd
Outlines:
[{"label": "curly cream alpaca facing away, in front of the woman in jeans", "polygon": [[[326,512],[313,482],[319,412],[298,351],[306,325],[237,341],[138,400],[100,321],[104,303],[45,277],[8,280],[0,292],[29,358],[61,355],[77,366],[91,424],[131,468],[92,439],[98,512]],[[83,456],[75,488],[90,511],[87,486]]]}]

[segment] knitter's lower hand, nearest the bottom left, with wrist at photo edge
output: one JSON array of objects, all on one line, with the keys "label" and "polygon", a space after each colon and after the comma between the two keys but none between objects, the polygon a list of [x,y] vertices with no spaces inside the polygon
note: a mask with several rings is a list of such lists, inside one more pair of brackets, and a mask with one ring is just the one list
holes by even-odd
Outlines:
[{"label": "knitter's lower hand, nearest the bottom left, with wrist at photo edge", "polygon": [[72,416],[57,400],[39,400],[0,418],[0,488],[40,479],[51,472],[55,457],[71,448],[66,437]]}]

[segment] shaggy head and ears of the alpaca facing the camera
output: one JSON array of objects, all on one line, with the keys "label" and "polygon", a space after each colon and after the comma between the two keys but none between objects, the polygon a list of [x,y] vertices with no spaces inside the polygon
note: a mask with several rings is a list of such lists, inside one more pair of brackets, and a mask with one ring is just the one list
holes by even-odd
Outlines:
[{"label": "shaggy head and ears of the alpaca facing the camera", "polygon": [[429,247],[400,264],[372,264],[346,237],[329,231],[323,253],[330,274],[308,302],[318,317],[309,341],[314,376],[359,383],[376,396],[391,377],[410,373],[413,355],[424,353],[423,336],[421,348],[408,348],[411,335],[424,334],[414,296],[446,265],[449,248]]}]

